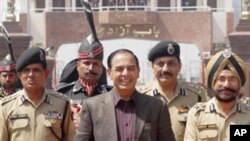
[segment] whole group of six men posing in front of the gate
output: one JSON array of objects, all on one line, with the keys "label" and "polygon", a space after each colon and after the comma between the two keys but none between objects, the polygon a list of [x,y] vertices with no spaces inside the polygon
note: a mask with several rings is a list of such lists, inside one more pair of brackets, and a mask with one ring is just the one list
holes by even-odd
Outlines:
[{"label": "whole group of six men posing in front of the gate", "polygon": [[[228,141],[230,125],[250,124],[250,110],[239,101],[246,66],[230,50],[208,62],[205,89],[178,80],[180,46],[161,41],[148,54],[155,81],[137,87],[140,65],[132,51],[113,51],[105,71],[92,20],[92,34],[63,76],[75,80],[56,90],[44,87],[50,70],[43,49],[0,62],[1,141]],[[102,81],[106,75],[113,86]]]}]

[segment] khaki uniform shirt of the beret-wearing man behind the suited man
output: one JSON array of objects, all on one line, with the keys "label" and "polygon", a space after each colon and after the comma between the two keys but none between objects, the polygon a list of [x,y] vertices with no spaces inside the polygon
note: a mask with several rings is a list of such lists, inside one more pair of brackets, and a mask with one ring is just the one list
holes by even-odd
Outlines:
[{"label": "khaki uniform shirt of the beret-wearing man behind the suited man", "polygon": [[158,82],[150,83],[138,88],[138,91],[148,95],[159,97],[168,103],[172,129],[176,141],[183,141],[187,113],[189,108],[197,102],[207,101],[205,89],[198,84],[178,82],[172,99],[167,100]]}]

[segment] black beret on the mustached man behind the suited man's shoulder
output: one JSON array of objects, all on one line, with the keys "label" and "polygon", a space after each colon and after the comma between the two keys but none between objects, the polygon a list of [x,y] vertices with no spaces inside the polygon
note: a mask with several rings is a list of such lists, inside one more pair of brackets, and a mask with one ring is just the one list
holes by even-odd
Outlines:
[{"label": "black beret on the mustached man behind the suited man's shoulder", "polygon": [[156,44],[148,54],[148,60],[154,62],[158,57],[174,56],[180,60],[180,47],[173,41],[161,41]]}]

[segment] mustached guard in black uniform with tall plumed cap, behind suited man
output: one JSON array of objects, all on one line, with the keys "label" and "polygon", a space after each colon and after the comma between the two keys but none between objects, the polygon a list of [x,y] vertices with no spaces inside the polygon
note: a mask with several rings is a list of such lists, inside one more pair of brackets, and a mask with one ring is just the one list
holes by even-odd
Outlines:
[{"label": "mustached guard in black uniform with tall plumed cap, behind suited man", "polygon": [[[90,6],[83,6],[92,33],[82,41],[78,50],[78,58],[73,61],[73,63],[76,63],[76,71],[70,70],[77,73],[78,78],[66,85],[59,84],[57,89],[58,92],[64,93],[72,99],[72,110],[75,113],[73,118],[76,128],[78,128],[80,122],[79,112],[83,99],[106,93],[112,88],[102,81],[103,79],[106,80],[106,72],[103,70],[104,66],[102,64],[103,45],[97,38]],[[74,66],[74,64],[72,65]],[[66,74],[74,75],[72,73]]]}]

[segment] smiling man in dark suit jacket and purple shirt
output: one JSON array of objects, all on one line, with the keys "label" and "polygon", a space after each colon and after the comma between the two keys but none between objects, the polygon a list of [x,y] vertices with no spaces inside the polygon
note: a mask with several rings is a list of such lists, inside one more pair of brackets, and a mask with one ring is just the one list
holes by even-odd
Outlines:
[{"label": "smiling man in dark suit jacket and purple shirt", "polygon": [[83,101],[75,141],[175,141],[166,103],[135,89],[137,57],[120,49],[107,64],[114,87]]}]

